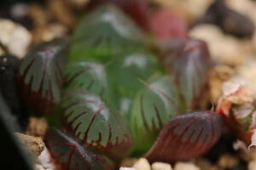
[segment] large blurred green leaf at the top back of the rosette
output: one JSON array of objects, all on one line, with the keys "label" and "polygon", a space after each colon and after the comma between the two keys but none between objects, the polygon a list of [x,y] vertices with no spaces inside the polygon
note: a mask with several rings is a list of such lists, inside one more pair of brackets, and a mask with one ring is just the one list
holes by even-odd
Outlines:
[{"label": "large blurred green leaf at the top back of the rosette", "polygon": [[85,15],[73,35],[71,60],[96,59],[106,62],[137,48],[143,48],[145,37],[119,8],[105,5]]}]

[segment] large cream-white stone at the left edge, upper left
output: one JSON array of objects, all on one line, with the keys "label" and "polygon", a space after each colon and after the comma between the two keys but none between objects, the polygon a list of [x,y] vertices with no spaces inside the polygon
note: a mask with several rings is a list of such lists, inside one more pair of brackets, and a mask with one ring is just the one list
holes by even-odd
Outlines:
[{"label": "large cream-white stone at the left edge, upper left", "polygon": [[0,19],[0,28],[0,41],[9,50],[9,53],[19,58],[24,57],[32,41],[30,32],[25,27],[4,19]]}]

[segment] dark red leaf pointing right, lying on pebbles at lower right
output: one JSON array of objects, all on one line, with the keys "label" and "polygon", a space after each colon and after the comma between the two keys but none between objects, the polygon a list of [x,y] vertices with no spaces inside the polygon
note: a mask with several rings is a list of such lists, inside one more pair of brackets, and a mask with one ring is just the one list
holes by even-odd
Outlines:
[{"label": "dark red leaf pointing right, lying on pebbles at lower right", "polygon": [[222,133],[221,116],[194,111],[173,117],[146,154],[149,161],[188,161],[207,152]]}]

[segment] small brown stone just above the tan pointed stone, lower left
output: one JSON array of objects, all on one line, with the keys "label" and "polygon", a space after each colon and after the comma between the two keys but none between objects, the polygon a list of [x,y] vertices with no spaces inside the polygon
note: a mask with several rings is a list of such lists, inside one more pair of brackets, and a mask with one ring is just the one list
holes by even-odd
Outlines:
[{"label": "small brown stone just above the tan pointed stone, lower left", "polygon": [[44,135],[48,130],[48,122],[44,117],[29,117],[26,127],[26,134],[44,139]]}]

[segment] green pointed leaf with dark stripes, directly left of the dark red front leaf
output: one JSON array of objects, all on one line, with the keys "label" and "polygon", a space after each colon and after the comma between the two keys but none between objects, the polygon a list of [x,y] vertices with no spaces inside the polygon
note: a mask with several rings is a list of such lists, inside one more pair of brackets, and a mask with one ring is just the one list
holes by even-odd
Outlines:
[{"label": "green pointed leaf with dark stripes, directly left of the dark red front leaf", "polygon": [[144,85],[132,105],[131,128],[135,152],[147,151],[170,117],[179,113],[177,87],[171,77],[160,77]]}]

